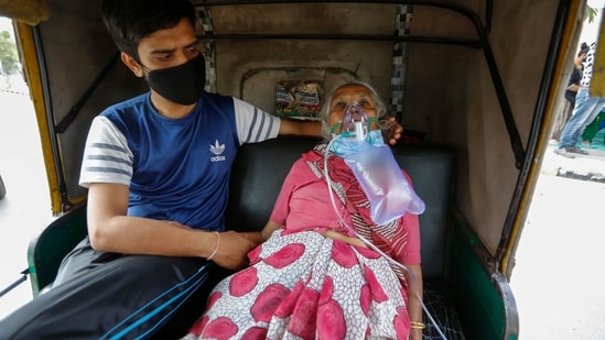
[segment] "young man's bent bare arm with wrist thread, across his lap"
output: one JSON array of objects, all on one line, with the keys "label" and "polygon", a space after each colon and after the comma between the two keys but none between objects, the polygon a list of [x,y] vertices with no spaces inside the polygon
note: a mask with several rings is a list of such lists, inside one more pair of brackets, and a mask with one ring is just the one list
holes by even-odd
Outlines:
[{"label": "young man's bent bare arm with wrist thread, across his lap", "polygon": [[88,189],[87,221],[94,249],[127,254],[208,257],[227,268],[246,265],[255,243],[229,231],[192,229],[174,221],[127,216],[129,188],[122,184],[93,183]]}]

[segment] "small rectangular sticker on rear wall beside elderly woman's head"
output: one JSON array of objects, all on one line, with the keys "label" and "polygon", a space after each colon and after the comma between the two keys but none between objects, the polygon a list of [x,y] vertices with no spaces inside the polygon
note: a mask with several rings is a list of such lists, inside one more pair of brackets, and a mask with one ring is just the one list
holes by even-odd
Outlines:
[{"label": "small rectangular sticker on rear wall beside elderly woman's head", "polygon": [[323,87],[316,80],[279,80],[276,83],[276,116],[317,120],[323,102]]}]

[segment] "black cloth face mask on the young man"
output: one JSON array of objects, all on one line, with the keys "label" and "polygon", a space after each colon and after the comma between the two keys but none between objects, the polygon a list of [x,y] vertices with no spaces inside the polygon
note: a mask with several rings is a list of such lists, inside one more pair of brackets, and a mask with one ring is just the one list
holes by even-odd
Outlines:
[{"label": "black cloth face mask on the young man", "polygon": [[185,64],[148,72],[149,87],[160,96],[180,105],[193,105],[204,91],[206,61],[199,54]]}]

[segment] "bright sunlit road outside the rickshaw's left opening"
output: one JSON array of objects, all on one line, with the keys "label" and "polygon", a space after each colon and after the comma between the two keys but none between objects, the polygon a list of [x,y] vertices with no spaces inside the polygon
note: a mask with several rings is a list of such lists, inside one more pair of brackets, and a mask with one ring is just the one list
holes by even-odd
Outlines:
[{"label": "bright sunlit road outside the rickshaw's left opening", "polygon": [[[28,267],[30,239],[51,220],[48,185],[30,97],[0,90],[0,290]],[[0,297],[0,318],[32,298],[30,283]]]}]

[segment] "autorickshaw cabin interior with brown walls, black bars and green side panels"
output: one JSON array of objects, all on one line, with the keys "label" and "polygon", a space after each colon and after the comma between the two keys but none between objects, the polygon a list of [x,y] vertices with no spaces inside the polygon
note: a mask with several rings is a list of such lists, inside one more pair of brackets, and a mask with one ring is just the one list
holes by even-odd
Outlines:
[{"label": "autorickshaw cabin interior with brown walls, black bars and green side panels", "polygon": [[[452,152],[439,239],[449,308],[467,339],[517,339],[508,281],[586,3],[192,2],[207,91],[277,114],[279,85],[312,83],[323,92],[360,79],[404,128],[398,147]],[[41,3],[42,14],[33,17],[2,8],[17,22],[56,216],[46,243],[37,239],[30,250],[34,295],[86,234],[87,191],[78,175],[91,119],[149,90],[120,63],[100,0]],[[34,253],[45,260],[34,263]]]}]

